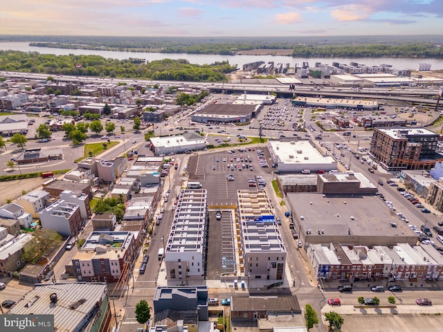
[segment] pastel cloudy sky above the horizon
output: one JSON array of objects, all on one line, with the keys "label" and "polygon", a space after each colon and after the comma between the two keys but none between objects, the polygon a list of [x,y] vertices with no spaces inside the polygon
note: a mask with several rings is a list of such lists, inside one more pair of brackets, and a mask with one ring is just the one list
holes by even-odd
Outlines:
[{"label": "pastel cloudy sky above the horizon", "polygon": [[1,35],[441,35],[443,0],[12,0]]}]

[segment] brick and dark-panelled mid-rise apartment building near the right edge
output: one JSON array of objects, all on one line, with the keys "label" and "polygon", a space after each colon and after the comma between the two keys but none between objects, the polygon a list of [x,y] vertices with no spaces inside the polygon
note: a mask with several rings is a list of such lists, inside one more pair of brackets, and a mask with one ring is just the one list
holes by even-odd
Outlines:
[{"label": "brick and dark-panelled mid-rise apartment building near the right edge", "polygon": [[[435,165],[439,134],[425,128],[374,129],[370,154],[388,171],[428,169]],[[431,161],[430,161],[431,160]]]}]

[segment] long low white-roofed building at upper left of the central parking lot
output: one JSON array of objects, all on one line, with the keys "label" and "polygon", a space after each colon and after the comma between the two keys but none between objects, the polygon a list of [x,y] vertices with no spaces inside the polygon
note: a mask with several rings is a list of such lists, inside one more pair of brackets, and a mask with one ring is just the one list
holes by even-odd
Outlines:
[{"label": "long low white-roofed building at upper left of the central parking lot", "polygon": [[197,151],[206,147],[206,140],[198,133],[152,137],[150,138],[150,142],[150,147],[156,156],[160,154],[182,154],[185,151]]}]

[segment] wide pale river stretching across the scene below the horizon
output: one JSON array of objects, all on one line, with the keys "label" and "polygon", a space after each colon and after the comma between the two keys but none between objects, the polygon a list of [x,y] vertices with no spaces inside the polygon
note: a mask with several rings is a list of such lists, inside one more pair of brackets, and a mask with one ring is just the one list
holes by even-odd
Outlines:
[{"label": "wide pale river stretching across the scene below the horizon", "polygon": [[38,52],[42,54],[55,55],[100,55],[102,57],[112,59],[129,59],[136,57],[146,59],[148,62],[161,59],[187,59],[191,64],[213,64],[214,62],[226,61],[230,64],[237,64],[238,68],[242,68],[244,64],[251,62],[273,61],[275,64],[279,62],[289,62],[293,67],[296,62],[308,62],[309,66],[314,66],[316,62],[332,64],[332,62],[341,62],[349,64],[350,62],[358,62],[366,66],[379,66],[380,64],[390,64],[395,68],[407,68],[417,70],[419,63],[431,64],[432,70],[443,69],[443,59],[422,59],[411,57],[311,57],[307,59],[289,57],[289,56],[273,56],[273,55],[206,55],[206,54],[186,54],[186,53],[145,53],[145,52],[120,52],[111,50],[72,50],[66,48],[49,48],[29,46],[28,42],[0,42],[0,50],[21,50],[22,52]]}]

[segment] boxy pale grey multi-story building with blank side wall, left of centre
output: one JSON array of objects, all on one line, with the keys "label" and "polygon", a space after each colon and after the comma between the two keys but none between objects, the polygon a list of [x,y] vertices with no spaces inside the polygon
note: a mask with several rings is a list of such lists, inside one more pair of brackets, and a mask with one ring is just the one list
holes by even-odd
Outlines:
[{"label": "boxy pale grey multi-story building with blank side wall, left of centre", "polygon": [[57,200],[39,212],[42,228],[55,230],[67,237],[76,237],[82,228],[82,215],[77,204]]}]

